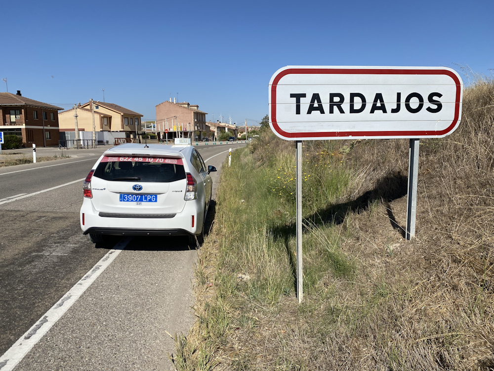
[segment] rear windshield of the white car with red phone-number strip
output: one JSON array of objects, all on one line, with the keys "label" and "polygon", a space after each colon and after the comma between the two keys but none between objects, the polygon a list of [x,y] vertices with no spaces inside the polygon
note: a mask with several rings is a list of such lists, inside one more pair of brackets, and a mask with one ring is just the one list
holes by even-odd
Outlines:
[{"label": "rear windshield of the white car with red phone-number strip", "polygon": [[163,157],[105,156],[93,176],[114,182],[168,183],[186,179],[181,159]]}]

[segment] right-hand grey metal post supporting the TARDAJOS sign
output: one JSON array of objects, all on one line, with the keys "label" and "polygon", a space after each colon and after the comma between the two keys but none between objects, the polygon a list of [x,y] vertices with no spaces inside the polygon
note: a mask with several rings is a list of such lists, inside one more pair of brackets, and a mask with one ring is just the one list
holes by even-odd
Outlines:
[{"label": "right-hand grey metal post supporting the TARDAJOS sign", "polygon": [[415,220],[417,216],[417,184],[418,184],[418,147],[420,139],[410,139],[407,192],[407,231],[408,240],[415,237]]}]

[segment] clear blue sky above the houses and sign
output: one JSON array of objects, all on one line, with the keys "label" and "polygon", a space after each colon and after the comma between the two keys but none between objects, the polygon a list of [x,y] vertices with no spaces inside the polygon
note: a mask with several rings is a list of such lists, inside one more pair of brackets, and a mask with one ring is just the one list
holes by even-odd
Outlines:
[{"label": "clear blue sky above the houses and sign", "polygon": [[269,79],[286,65],[494,68],[493,0],[28,0],[1,10],[9,92],[71,104],[102,100],[104,88],[145,119],[178,93],[208,120],[261,120]]}]

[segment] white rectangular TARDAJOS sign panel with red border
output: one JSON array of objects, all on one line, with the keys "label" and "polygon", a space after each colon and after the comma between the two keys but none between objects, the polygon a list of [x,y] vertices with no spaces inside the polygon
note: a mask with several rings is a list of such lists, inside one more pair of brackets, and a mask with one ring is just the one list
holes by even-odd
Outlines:
[{"label": "white rectangular TARDAJOS sign panel with red border", "polygon": [[269,124],[287,140],[441,138],[462,93],[447,67],[288,66],[269,82]]}]

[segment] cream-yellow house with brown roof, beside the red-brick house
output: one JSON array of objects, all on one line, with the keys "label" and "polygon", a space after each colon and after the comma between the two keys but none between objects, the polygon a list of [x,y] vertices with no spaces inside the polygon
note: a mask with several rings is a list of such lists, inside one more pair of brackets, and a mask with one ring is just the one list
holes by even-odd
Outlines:
[{"label": "cream-yellow house with brown roof, beside the red-brick house", "polygon": [[[140,113],[131,111],[130,109],[119,106],[115,103],[106,102],[93,102],[94,103],[94,126],[96,132],[121,132],[124,136],[119,138],[136,138],[141,134],[141,118],[143,115]],[[91,101],[81,104],[77,107],[60,112],[58,114],[58,121],[60,122],[60,132],[71,133],[69,136],[66,134],[66,138],[75,137],[75,119],[74,114],[77,110],[77,126],[80,133],[80,139],[93,139],[93,119],[92,119],[92,107]],[[86,134],[87,133],[87,134]],[[87,138],[86,138],[87,137]],[[102,135],[98,135],[98,140],[103,138]],[[105,137],[106,138],[106,137]]]}]

